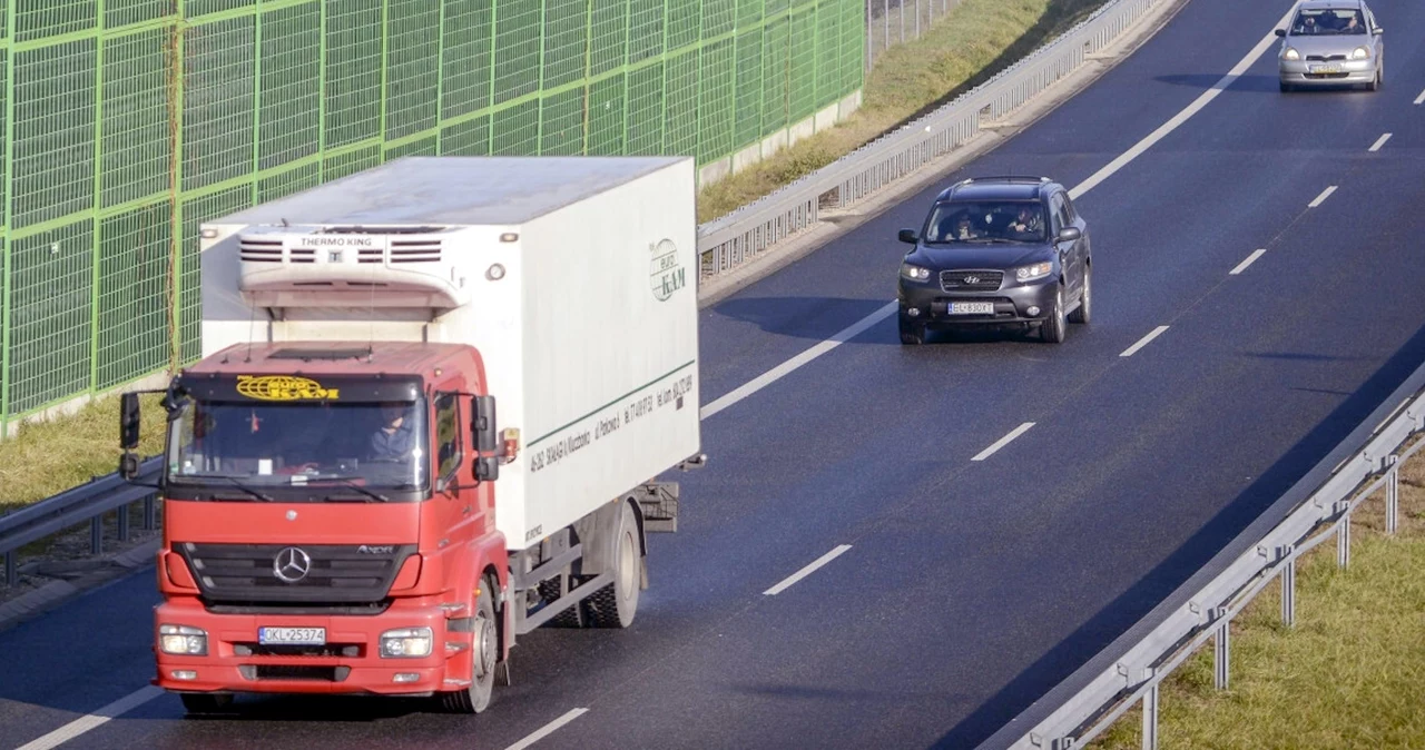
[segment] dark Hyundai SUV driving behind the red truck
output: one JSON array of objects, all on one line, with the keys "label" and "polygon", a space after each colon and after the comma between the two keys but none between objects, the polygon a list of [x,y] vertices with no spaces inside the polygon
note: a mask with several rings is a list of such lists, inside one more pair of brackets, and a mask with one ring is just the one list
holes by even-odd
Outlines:
[{"label": "dark Hyundai SUV driving behind the red truck", "polygon": [[1064,320],[1089,322],[1089,225],[1049,178],[979,176],[935,198],[901,263],[901,343],[928,326],[1037,327],[1064,339]]}]

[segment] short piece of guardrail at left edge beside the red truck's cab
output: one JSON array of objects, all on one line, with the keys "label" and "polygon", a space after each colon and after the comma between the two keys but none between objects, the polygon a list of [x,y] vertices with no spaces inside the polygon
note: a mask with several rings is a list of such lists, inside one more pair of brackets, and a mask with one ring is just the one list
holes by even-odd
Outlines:
[{"label": "short piece of guardrail at left edge beside the red truck's cab", "polygon": [[[155,482],[162,458],[155,457],[140,465],[137,481]],[[16,585],[20,578],[17,551],[34,541],[90,522],[90,551],[95,555],[104,551],[104,514],[118,512],[118,538],[128,541],[128,505],[144,504],[144,529],[158,527],[154,512],[157,491],[151,487],[137,487],[124,481],[117,472],[90,480],[51,498],[21,508],[9,515],[0,515],[0,555],[4,556],[4,583]]]}]

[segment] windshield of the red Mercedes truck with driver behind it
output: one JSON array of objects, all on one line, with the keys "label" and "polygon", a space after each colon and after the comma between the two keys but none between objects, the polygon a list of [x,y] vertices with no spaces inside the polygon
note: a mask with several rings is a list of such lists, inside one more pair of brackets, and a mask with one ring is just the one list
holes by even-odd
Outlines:
[{"label": "windshield of the red Mercedes truck with driver behind it", "polygon": [[[285,500],[322,488],[332,500],[390,500],[425,488],[429,450],[420,401],[190,401],[172,426],[170,482]],[[311,495],[311,492],[306,492]]]}]

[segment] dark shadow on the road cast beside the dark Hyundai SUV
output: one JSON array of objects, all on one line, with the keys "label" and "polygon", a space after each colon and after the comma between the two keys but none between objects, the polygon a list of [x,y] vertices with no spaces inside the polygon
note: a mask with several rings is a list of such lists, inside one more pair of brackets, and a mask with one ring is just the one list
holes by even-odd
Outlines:
[{"label": "dark shadow on the road cast beside the dark Hyundai SUV", "polygon": [[[824,342],[885,307],[888,302],[891,299],[734,297],[714,306],[714,313],[751,323],[767,333]],[[893,322],[895,316],[886,320]],[[885,320],[876,322],[868,332],[856,336],[856,343],[901,346],[893,323],[891,329],[884,329],[885,324]],[[886,334],[885,330],[891,333]]]}]

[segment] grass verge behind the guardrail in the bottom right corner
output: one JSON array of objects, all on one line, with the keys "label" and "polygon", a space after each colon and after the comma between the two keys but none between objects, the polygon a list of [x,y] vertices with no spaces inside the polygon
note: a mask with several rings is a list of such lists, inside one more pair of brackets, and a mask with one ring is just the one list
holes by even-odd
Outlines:
[{"label": "grass verge behind the guardrail in the bottom right corner", "polygon": [[[1270,585],[1233,622],[1228,689],[1213,649],[1163,680],[1164,747],[1425,747],[1425,454],[1401,468],[1401,517],[1385,535],[1385,495],[1352,515],[1351,565],[1325,542],[1297,562],[1295,628]],[[1141,747],[1133,709],[1089,747]]]}]

